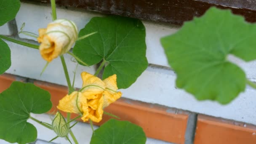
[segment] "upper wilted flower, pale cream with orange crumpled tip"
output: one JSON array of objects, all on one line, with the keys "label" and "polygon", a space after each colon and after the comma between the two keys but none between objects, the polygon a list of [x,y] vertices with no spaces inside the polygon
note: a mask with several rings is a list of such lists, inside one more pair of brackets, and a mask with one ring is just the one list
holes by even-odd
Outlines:
[{"label": "upper wilted flower, pale cream with orange crumpled tip", "polygon": [[37,41],[41,43],[40,54],[46,61],[67,53],[77,40],[77,26],[74,22],[57,19],[47,25],[46,29],[39,29]]}]

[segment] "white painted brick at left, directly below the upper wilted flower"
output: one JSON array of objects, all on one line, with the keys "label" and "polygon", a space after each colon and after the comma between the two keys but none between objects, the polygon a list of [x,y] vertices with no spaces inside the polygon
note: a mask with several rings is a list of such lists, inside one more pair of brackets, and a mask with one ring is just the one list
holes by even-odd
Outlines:
[{"label": "white painted brick at left, directly below the upper wilted flower", "polygon": [[[7,42],[11,48],[11,67],[6,71],[7,73],[13,75],[20,75],[23,77],[29,77],[36,80],[48,81],[51,83],[56,83],[60,85],[67,85],[65,79],[63,67],[61,65],[61,60],[59,58],[54,59],[46,68],[43,75],[40,76],[46,61],[43,60],[39,51],[37,49],[27,48],[15,43]],[[73,80],[74,69],[76,63],[71,61],[71,56],[68,54],[64,55],[67,67],[69,70],[69,77]],[[94,74],[95,67],[83,67],[81,65],[77,68],[77,75],[75,77],[75,87],[80,88],[82,86],[82,80],[80,78],[80,73],[87,71]]]}]

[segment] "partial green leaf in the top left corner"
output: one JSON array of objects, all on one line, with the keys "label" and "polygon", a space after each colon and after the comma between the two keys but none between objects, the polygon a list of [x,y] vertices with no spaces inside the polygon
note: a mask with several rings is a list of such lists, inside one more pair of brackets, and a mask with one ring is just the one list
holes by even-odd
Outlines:
[{"label": "partial green leaf in the top left corner", "polygon": [[0,26],[14,19],[20,6],[19,0],[0,0]]}]

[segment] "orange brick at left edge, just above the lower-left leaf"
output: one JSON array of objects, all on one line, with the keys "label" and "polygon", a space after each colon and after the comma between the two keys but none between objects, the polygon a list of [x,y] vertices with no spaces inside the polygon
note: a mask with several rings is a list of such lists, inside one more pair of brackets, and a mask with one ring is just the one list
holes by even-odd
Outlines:
[{"label": "orange brick at left edge, just above the lower-left leaf", "polygon": [[11,83],[13,81],[21,81],[24,82],[24,78],[15,76],[15,75],[10,75],[10,74],[2,74],[0,75],[0,93],[6,90],[11,86]]}]

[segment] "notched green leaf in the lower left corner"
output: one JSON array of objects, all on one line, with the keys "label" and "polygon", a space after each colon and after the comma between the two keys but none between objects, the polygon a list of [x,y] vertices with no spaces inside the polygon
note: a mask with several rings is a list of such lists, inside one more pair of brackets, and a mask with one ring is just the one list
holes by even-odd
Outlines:
[{"label": "notched green leaf in the lower left corner", "polygon": [[30,112],[41,114],[51,109],[48,91],[31,83],[13,82],[0,93],[0,139],[26,144],[35,141],[37,130],[27,123]]}]

